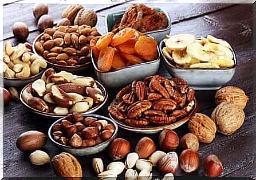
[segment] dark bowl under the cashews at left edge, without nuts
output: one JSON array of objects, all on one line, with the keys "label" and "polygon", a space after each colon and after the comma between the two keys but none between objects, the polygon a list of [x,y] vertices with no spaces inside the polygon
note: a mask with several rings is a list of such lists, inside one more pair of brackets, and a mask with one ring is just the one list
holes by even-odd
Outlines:
[{"label": "dark bowl under the cashews at left edge, without nuts", "polygon": [[44,72],[45,72],[45,69],[42,69],[37,75],[23,78],[23,79],[3,77],[3,84],[9,87],[17,87],[17,88],[24,87],[25,85],[39,79]]}]

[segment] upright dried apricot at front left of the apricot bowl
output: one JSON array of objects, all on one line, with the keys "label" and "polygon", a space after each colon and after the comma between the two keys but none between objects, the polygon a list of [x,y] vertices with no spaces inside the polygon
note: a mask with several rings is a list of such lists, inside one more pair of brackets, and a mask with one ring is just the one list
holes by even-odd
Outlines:
[{"label": "upright dried apricot at front left of the apricot bowl", "polygon": [[100,51],[99,59],[97,62],[98,68],[100,71],[109,71],[112,67],[113,58],[115,55],[115,48],[105,47]]}]

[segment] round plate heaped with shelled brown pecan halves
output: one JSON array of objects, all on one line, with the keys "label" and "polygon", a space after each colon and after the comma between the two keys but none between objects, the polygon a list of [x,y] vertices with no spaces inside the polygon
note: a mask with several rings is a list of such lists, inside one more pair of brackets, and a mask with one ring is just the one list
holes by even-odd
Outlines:
[{"label": "round plate heaped with shelled brown pecan halves", "polygon": [[120,128],[147,134],[178,128],[196,109],[195,91],[186,80],[159,75],[133,81],[108,107],[109,116]]}]

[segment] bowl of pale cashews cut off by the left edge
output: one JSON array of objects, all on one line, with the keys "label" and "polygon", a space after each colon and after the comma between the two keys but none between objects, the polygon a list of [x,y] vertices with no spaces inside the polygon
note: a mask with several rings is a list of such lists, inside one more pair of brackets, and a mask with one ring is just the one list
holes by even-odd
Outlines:
[{"label": "bowl of pale cashews cut off by the left edge", "polygon": [[5,43],[3,54],[4,85],[24,87],[26,84],[39,79],[46,66],[46,61],[31,53],[25,44],[18,44],[13,47],[11,42]]}]

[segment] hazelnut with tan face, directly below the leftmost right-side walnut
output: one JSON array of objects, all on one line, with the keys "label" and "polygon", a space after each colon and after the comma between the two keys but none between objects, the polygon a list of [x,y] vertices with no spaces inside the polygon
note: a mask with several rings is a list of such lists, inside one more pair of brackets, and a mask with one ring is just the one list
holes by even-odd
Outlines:
[{"label": "hazelnut with tan face, directly below the leftmost right-side walnut", "polygon": [[181,149],[191,149],[195,152],[199,149],[198,138],[193,133],[187,133],[180,139],[180,148]]}]

